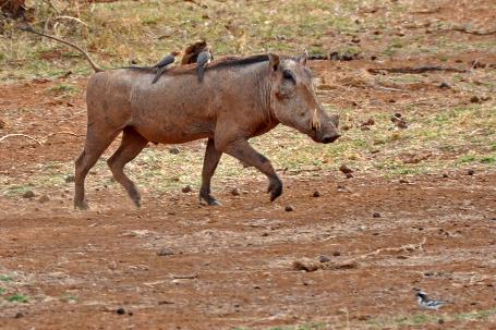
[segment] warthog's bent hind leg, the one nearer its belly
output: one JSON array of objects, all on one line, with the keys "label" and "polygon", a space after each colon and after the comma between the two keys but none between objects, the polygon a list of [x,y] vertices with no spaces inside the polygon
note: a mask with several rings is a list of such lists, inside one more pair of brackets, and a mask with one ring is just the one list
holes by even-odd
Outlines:
[{"label": "warthog's bent hind leg, the one nearer its belly", "polygon": [[112,171],[113,179],[122,184],[136,207],[140,207],[142,197],[134,182],[125,175],[124,167],[143,150],[147,143],[148,140],[140,133],[133,127],[128,126],[122,133],[121,145],[116,152],[113,152],[112,157],[107,160],[107,163]]}]

